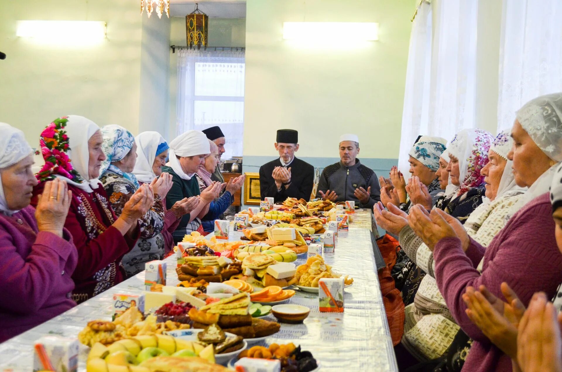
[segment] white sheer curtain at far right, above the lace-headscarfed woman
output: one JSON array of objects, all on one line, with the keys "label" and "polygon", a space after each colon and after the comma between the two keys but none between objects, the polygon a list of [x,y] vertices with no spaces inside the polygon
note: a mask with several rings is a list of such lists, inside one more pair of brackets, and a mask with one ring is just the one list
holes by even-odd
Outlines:
[{"label": "white sheer curtain at far right, above the lace-headscarfed woman", "polygon": [[541,94],[562,90],[562,1],[504,0],[497,130]]}]

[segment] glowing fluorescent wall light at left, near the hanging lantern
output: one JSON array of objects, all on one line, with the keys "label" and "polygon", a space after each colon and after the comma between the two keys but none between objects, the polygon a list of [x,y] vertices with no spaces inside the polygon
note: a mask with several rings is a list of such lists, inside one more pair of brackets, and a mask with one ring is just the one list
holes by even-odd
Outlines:
[{"label": "glowing fluorescent wall light at left, near the hanging lantern", "polygon": [[106,37],[101,21],[18,21],[16,35],[54,43],[92,43]]}]

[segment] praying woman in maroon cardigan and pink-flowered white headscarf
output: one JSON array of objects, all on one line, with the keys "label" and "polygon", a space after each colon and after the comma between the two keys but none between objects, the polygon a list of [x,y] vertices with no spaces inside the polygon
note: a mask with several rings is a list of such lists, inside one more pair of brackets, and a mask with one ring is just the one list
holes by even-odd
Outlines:
[{"label": "praying woman in maroon cardigan and pink-flowered white headscarf", "polygon": [[[41,194],[46,181],[62,179],[72,192],[65,228],[78,249],[72,298],[78,303],[106,291],[125,278],[121,258],[137,242],[137,221],[152,206],[152,188],[144,185],[125,203],[119,218],[99,182],[106,156],[99,127],[83,116],[64,116],[49,124],[39,140],[45,165],[36,175]],[[37,205],[37,200],[32,203]]]}]

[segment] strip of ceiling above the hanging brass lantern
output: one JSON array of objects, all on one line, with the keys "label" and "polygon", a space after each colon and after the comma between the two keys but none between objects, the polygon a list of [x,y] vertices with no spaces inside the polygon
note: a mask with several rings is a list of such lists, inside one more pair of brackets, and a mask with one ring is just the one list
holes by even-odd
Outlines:
[{"label": "strip of ceiling above the hanging brass lantern", "polygon": [[[246,18],[246,0],[197,1],[199,9],[212,18]],[[195,1],[170,0],[170,16],[185,17],[195,9]]]}]

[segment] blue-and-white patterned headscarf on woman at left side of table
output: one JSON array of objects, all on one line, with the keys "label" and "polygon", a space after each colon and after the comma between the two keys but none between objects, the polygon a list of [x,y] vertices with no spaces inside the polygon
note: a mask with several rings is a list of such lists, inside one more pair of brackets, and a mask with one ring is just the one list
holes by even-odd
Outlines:
[{"label": "blue-and-white patterned headscarf on woman at left side of table", "polygon": [[115,165],[111,164],[114,161],[123,160],[125,156],[133,148],[135,138],[133,134],[120,125],[106,125],[102,128],[103,135],[103,152],[106,155],[106,160],[102,164],[100,176],[106,171],[118,174],[125,177],[130,182],[134,183],[135,187],[139,188],[137,177],[133,173],[124,173]]}]

